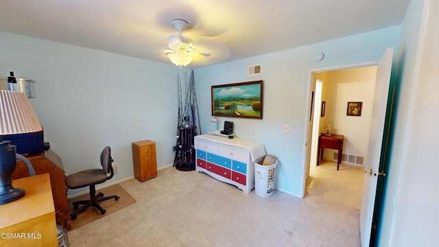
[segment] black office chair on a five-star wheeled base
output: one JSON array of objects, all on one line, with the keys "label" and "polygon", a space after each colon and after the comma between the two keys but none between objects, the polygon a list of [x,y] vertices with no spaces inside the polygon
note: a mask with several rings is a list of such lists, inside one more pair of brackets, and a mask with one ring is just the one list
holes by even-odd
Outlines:
[{"label": "black office chair on a five-star wheeled base", "polygon": [[[90,200],[81,200],[78,202],[73,202],[74,211],[70,214],[71,220],[76,220],[78,217],[78,213],[88,209],[88,207],[95,207],[98,209],[103,215],[106,213],[105,209],[99,205],[99,202],[104,200],[110,200],[115,198],[115,200],[119,200],[119,196],[105,196],[104,193],[97,193],[95,185],[100,183],[104,183],[106,180],[112,178],[115,172],[112,169],[112,158],[111,158],[111,149],[110,147],[105,147],[101,152],[101,165],[102,169],[87,169],[81,172],[76,172],[75,174],[71,174],[66,177],[66,185],[69,189],[78,189],[82,187],[89,186],[90,187]],[[110,174],[110,176],[107,176]],[[78,209],[78,205],[84,204],[82,207]]]}]

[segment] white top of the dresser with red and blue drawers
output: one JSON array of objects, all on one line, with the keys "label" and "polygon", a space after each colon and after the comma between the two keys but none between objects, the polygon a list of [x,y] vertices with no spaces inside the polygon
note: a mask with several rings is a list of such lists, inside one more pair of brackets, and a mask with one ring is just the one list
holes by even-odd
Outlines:
[{"label": "white top of the dresser with red and blue drawers", "polygon": [[230,145],[232,147],[244,148],[250,150],[250,156],[252,161],[256,161],[258,158],[265,156],[265,147],[263,143],[256,141],[248,141],[239,138],[228,139],[228,137],[222,137],[215,134],[200,134],[195,136],[195,141],[207,141],[224,145]]}]

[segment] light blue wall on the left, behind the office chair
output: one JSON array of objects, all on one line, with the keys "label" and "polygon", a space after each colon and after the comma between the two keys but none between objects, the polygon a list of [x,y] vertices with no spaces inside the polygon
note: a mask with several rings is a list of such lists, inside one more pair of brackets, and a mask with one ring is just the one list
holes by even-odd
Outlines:
[{"label": "light blue wall on the left, behind the office chair", "polygon": [[174,65],[0,32],[0,75],[9,71],[36,80],[30,101],[67,175],[99,167],[110,145],[112,181],[133,176],[131,143],[144,139],[156,142],[158,167],[173,162]]}]

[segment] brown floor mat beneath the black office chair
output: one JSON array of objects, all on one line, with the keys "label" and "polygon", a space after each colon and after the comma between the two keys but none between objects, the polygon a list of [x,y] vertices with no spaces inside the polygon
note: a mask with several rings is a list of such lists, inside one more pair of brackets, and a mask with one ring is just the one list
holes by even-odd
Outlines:
[{"label": "brown floor mat beneath the black office chair", "polygon": [[[86,211],[83,211],[82,213],[78,214],[78,218],[76,220],[70,220],[71,229],[74,230],[81,226],[84,226],[90,222],[93,222],[95,220],[99,220],[102,217],[106,217],[107,215],[110,215],[112,213],[115,213],[116,211],[119,211],[121,209],[124,209],[134,203],[136,203],[136,200],[132,198],[130,193],[128,193],[121,185],[111,185],[109,187],[105,187],[103,189],[98,189],[96,193],[102,192],[104,193],[104,196],[112,196],[117,195],[119,196],[119,200],[110,199],[106,200],[104,202],[100,202],[99,205],[103,207],[106,210],[106,213],[104,215],[101,215],[99,210],[95,208],[88,208]],[[78,200],[88,200],[90,198],[89,194],[84,194],[81,196],[77,196],[74,198],[69,199],[69,211],[73,211],[73,204],[72,202],[78,201]]]}]

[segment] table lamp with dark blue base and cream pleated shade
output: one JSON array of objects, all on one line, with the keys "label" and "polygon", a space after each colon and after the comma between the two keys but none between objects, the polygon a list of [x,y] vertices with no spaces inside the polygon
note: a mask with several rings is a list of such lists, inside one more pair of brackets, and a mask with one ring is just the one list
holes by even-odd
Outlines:
[{"label": "table lamp with dark blue base and cream pleated shade", "polygon": [[16,147],[3,141],[5,134],[43,130],[25,93],[0,90],[0,205],[25,196],[25,190],[12,187],[16,167]]}]

